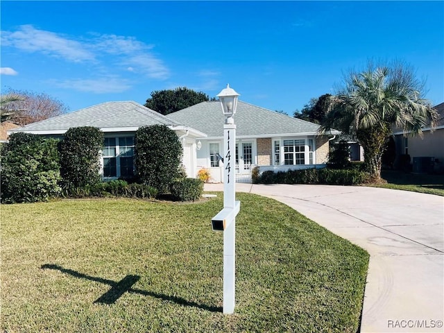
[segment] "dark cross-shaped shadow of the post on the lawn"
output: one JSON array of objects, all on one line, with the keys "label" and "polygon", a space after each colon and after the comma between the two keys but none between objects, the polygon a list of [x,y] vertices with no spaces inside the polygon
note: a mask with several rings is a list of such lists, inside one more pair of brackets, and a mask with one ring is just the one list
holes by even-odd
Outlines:
[{"label": "dark cross-shaped shadow of the post on the lawn", "polygon": [[123,293],[138,293],[143,296],[152,296],[155,298],[160,298],[162,300],[168,300],[170,302],[175,302],[179,305],[185,305],[187,307],[199,307],[200,309],[204,309],[212,312],[222,312],[222,307],[211,307],[209,305],[198,304],[196,302],[189,302],[184,298],[176,297],[176,296],[168,296],[162,293],[153,293],[152,291],[146,291],[141,289],[133,288],[133,285],[139,281],[139,275],[126,275],[125,278],[120,280],[119,282],[115,282],[113,280],[96,278],[91,275],[86,275],[83,273],[79,273],[78,271],[74,271],[69,268],[63,268],[62,266],[58,266],[55,264],[44,264],[41,266],[42,269],[53,269],[56,271],[60,271],[62,273],[66,273],[74,276],[75,278],[90,280],[94,282],[100,282],[102,284],[108,284],[111,286],[111,289],[104,293],[101,297],[94,300],[94,303],[102,303],[102,304],[114,304]]}]

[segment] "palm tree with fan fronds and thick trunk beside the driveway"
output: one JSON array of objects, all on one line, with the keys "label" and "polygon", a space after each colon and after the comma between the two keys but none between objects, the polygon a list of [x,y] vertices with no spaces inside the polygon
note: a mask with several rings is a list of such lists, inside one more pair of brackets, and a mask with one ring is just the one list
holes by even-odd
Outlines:
[{"label": "palm tree with fan fronds and thick trunk beside the driveway", "polygon": [[438,113],[422,98],[423,86],[411,67],[402,64],[369,65],[361,73],[350,72],[345,87],[330,98],[321,133],[335,128],[354,135],[364,148],[366,171],[379,181],[382,153],[393,127],[422,136],[422,127],[436,126]]}]

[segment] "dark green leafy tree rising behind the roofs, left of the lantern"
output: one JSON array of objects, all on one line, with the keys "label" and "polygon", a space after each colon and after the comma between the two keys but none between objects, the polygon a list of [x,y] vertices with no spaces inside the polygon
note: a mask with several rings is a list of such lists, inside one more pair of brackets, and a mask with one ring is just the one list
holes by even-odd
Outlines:
[{"label": "dark green leafy tree rising behind the roofs, left of the lantern", "polygon": [[159,113],[169,114],[205,101],[209,101],[207,94],[195,92],[187,87],[178,87],[151,92],[151,99],[146,100],[145,106]]}]

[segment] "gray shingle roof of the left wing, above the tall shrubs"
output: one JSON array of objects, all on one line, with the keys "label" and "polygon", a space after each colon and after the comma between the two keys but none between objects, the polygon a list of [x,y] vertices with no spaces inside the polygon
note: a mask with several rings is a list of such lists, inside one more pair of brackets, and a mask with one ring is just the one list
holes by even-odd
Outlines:
[{"label": "gray shingle roof of the left wing, above the tall shrubs", "polygon": [[139,127],[162,124],[179,125],[173,119],[155,112],[134,101],[106,102],[89,108],[62,114],[37,123],[30,123],[16,131],[68,130],[71,127],[97,128]]}]

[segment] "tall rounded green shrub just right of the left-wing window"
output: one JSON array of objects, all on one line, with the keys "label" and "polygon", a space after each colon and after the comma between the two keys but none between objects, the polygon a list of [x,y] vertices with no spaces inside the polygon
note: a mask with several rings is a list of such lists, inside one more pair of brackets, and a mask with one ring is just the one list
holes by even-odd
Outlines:
[{"label": "tall rounded green shrub just right of the left-wing window", "polygon": [[145,126],[135,133],[135,164],[142,184],[167,193],[179,178],[182,144],[173,130],[164,125]]}]

